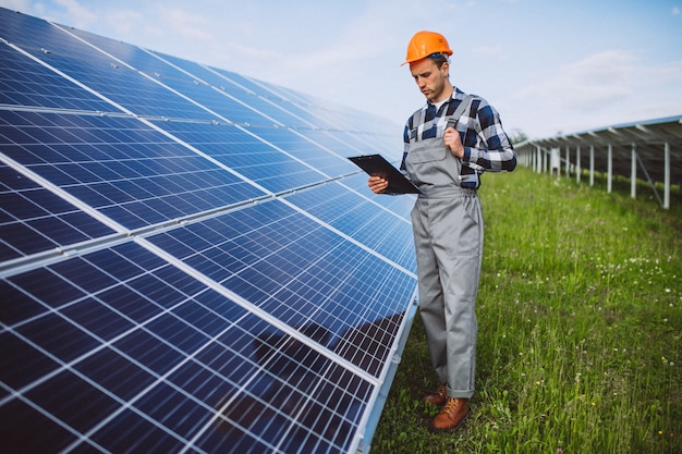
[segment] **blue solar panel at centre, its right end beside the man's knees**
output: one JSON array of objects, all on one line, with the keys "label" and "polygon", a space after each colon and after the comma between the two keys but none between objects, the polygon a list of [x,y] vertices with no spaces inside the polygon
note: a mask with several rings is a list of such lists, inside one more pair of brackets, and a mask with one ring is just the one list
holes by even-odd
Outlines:
[{"label": "blue solar panel at centre, its right end beside the man's knees", "polygon": [[[391,230],[404,235],[404,230]],[[393,240],[412,247],[404,236]],[[346,336],[357,324],[402,314],[404,306],[398,302],[409,302],[415,286],[411,272],[279,203],[150,241],[284,323],[319,327],[326,333],[324,344],[336,352],[352,351]],[[385,330],[394,332],[400,321],[389,322]],[[346,359],[378,375],[387,354],[387,346],[377,345]]]}]

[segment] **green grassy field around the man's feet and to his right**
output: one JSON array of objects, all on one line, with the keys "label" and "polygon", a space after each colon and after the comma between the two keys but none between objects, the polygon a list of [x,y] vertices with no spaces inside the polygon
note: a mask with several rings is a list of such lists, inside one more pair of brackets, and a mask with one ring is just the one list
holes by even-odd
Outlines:
[{"label": "green grassy field around the man's feet and to his right", "polygon": [[428,432],[417,315],[372,453],[682,453],[682,203],[625,187],[484,175],[472,415]]}]

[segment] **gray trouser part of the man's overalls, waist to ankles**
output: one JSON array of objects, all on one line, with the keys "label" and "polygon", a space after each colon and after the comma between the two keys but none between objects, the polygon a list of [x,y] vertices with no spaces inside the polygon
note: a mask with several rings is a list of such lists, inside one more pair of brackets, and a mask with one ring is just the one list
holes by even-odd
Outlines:
[{"label": "gray trouser part of the man's overalls, waist to ankles", "polygon": [[419,199],[413,210],[419,312],[431,361],[452,397],[474,393],[475,300],[483,250],[478,198]]}]

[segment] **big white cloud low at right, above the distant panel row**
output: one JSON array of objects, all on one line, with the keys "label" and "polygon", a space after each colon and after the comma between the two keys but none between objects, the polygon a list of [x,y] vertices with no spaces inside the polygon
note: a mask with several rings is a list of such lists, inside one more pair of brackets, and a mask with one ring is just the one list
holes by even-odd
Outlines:
[{"label": "big white cloud low at right, above the distant panel row", "polygon": [[647,65],[633,52],[610,50],[533,78],[511,97],[523,112],[511,113],[526,131],[548,123],[544,118],[563,119],[533,130],[540,136],[682,113],[682,60]]}]

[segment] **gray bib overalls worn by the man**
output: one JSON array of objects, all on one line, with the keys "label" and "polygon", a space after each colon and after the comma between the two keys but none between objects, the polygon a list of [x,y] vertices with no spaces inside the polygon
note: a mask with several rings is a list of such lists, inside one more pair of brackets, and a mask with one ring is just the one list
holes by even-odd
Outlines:
[{"label": "gray bib overalls worn by the man", "polygon": [[483,213],[476,191],[460,187],[461,167],[442,136],[411,139],[405,170],[423,193],[412,209],[419,312],[440,383],[450,397],[471,398]]}]

